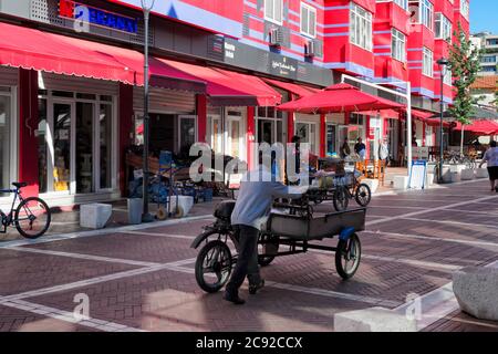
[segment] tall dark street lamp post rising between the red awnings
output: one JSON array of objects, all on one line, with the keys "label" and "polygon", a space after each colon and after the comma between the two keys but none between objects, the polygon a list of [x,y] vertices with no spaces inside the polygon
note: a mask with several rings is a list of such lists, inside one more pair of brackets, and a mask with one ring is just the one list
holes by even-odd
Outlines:
[{"label": "tall dark street lamp post rising between the red awnings", "polygon": [[[144,205],[142,212],[142,221],[151,222],[154,220],[148,211],[148,143],[149,143],[149,116],[148,116],[148,18],[151,10],[154,7],[155,0],[141,0],[142,10],[144,11],[144,179],[143,179],[143,196]],[[148,4],[149,3],[149,4]]]}]

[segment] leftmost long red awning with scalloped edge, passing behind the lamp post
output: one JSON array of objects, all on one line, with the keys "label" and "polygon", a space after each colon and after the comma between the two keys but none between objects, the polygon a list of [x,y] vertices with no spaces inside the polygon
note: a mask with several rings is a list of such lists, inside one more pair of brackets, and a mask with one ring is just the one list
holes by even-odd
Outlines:
[{"label": "leftmost long red awning with scalloped edge, passing behind the lamp post", "polygon": [[[0,65],[144,84],[144,55],[118,46],[0,23]],[[206,83],[151,59],[151,84],[205,92]]]}]

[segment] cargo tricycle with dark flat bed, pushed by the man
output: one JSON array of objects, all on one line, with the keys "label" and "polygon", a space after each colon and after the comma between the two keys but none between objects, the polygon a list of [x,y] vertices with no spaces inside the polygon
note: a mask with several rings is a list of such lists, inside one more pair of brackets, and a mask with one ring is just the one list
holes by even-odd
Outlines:
[{"label": "cargo tricycle with dark flat bed, pushed by the man", "polygon": [[[335,252],[335,269],[342,279],[347,280],[355,274],[362,253],[356,232],[365,229],[366,208],[326,215],[313,215],[305,210],[289,215],[282,210],[294,209],[295,206],[276,206],[279,211],[270,215],[258,239],[258,260],[261,267],[269,266],[277,257],[321,250]],[[195,266],[197,283],[209,293],[224,288],[237,262],[238,240],[230,225],[234,207],[235,201],[221,202],[215,211],[216,221],[205,227],[204,232],[191,243],[191,248],[200,248]],[[319,243],[335,237],[336,246]],[[230,248],[229,241],[235,249]]]}]

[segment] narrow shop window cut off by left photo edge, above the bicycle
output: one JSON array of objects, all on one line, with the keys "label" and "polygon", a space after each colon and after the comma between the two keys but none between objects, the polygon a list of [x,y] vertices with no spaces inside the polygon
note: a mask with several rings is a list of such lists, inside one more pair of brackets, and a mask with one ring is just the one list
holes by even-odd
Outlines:
[{"label": "narrow shop window cut off by left photo edge, above the bicycle", "polygon": [[4,189],[10,188],[10,95],[0,95],[0,188]]}]

